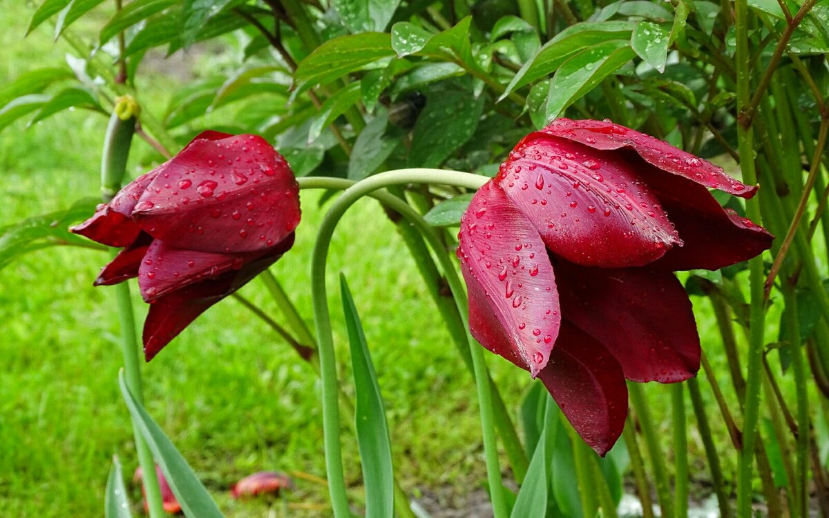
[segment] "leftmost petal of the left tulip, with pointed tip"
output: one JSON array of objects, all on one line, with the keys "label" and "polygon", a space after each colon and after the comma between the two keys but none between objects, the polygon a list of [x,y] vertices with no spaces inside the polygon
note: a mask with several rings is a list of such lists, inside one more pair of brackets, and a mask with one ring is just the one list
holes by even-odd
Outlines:
[{"label": "leftmost petal of the left tulip, with pointed tip", "polygon": [[115,194],[109,204],[99,205],[91,218],[70,228],[70,232],[109,247],[128,247],[141,233],[141,228],[129,218],[133,207],[161,169],[162,166],[138,176]]}]

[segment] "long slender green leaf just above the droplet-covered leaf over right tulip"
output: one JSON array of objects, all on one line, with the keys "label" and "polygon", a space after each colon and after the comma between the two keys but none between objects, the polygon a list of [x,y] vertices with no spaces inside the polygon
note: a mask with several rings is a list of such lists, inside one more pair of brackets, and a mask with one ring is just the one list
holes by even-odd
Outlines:
[{"label": "long slender green leaf just above the droplet-covered leaf over right tulip", "polygon": [[581,22],[566,28],[538,50],[536,57],[527,61],[512,78],[501,100],[525,84],[552,74],[570,57],[586,47],[611,40],[629,40],[635,22]]}]

